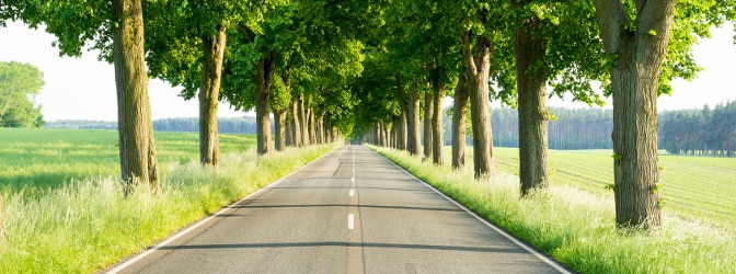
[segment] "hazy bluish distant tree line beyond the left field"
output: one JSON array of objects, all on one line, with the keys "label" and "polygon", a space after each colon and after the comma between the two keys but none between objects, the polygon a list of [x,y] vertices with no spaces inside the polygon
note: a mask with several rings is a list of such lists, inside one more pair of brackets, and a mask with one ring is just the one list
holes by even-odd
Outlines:
[{"label": "hazy bluish distant tree line beyond the left field", "polygon": [[[88,119],[61,119],[46,123],[45,128],[81,128],[81,129],[117,129],[117,122],[113,121],[88,121]],[[255,134],[255,117],[218,118],[217,128],[225,134]],[[188,118],[163,118],[153,121],[156,132],[199,132],[199,119]]]}]

